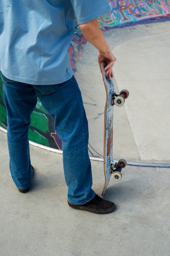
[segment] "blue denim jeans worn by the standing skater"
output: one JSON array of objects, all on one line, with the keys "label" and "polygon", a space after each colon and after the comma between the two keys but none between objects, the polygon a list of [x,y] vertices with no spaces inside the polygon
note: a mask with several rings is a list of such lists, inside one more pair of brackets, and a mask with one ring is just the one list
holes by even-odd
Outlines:
[{"label": "blue denim jeans worn by the standing skater", "polygon": [[74,76],[61,84],[30,85],[7,79],[1,73],[7,109],[7,139],[10,171],[18,189],[27,189],[32,180],[28,130],[37,97],[55,120],[62,139],[63,166],[68,202],[85,204],[94,198],[91,189],[91,162],[88,156],[88,122],[81,92]]}]

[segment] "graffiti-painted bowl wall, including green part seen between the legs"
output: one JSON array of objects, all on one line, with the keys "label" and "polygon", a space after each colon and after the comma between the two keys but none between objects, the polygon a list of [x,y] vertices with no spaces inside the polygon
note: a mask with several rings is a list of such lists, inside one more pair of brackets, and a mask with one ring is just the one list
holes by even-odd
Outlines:
[{"label": "graffiti-painted bowl wall, including green part seen between the legs", "polygon": [[[132,22],[142,22],[159,17],[170,18],[170,0],[108,0],[111,11],[99,17],[103,30],[129,25]],[[160,20],[161,21],[161,20]],[[86,39],[75,22],[75,35],[68,49],[73,72],[76,72],[76,61],[82,54],[82,45]],[[4,106],[2,81],[0,80],[0,126],[7,128],[7,112]],[[31,116],[29,139],[52,148],[62,149],[62,143],[54,130],[51,116],[38,100]]]}]

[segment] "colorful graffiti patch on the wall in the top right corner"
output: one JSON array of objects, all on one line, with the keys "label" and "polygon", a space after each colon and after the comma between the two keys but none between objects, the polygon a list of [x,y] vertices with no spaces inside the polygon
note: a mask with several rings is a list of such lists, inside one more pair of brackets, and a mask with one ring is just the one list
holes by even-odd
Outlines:
[{"label": "colorful graffiti patch on the wall in the top right corner", "polygon": [[99,18],[103,30],[170,15],[170,0],[108,0],[111,11]]}]

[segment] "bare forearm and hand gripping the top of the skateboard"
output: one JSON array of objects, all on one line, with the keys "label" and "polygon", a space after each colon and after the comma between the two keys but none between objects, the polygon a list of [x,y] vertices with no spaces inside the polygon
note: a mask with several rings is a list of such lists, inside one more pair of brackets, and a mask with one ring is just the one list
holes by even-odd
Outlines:
[{"label": "bare forearm and hand gripping the top of the skateboard", "polygon": [[113,77],[112,67],[116,61],[116,58],[110,51],[110,47],[104,38],[98,19],[91,20],[84,24],[79,24],[79,28],[85,38],[98,49],[98,63],[100,70],[101,63],[104,61],[107,65],[105,67],[106,74],[109,78]]}]

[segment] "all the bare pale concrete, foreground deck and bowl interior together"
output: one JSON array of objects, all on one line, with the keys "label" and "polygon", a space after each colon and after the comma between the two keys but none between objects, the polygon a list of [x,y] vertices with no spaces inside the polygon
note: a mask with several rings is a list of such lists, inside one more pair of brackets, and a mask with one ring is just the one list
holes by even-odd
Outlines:
[{"label": "all the bare pale concrete, foreground deck and bowl interior together", "polygon": [[[117,159],[170,163],[169,27],[163,22],[104,33],[117,57],[117,90],[130,91],[125,105],[115,109]],[[96,52],[85,47],[77,80],[89,121],[89,150],[102,157],[105,91]],[[115,202],[115,212],[97,215],[68,206],[61,154],[30,145],[35,175],[29,193],[22,194],[9,173],[2,131],[0,148],[0,256],[170,255],[169,168],[126,166],[121,181],[110,180],[104,195]],[[101,195],[103,162],[91,164],[93,189]]]}]

